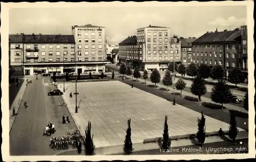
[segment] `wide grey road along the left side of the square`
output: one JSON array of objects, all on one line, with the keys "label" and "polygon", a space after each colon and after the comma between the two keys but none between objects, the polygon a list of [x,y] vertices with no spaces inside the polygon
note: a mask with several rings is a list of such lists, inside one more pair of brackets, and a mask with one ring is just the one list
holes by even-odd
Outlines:
[{"label": "wide grey road along the left side of the square", "polygon": [[[18,114],[10,132],[10,155],[53,155],[57,153],[49,147],[49,137],[42,136],[48,122],[55,125],[53,136],[67,134],[67,129],[76,128],[66,106],[58,106],[61,96],[48,96],[47,92],[56,89],[44,86],[42,77],[29,84],[20,104]],[[27,109],[24,107],[27,102]],[[61,124],[62,115],[70,116],[70,124]]]}]

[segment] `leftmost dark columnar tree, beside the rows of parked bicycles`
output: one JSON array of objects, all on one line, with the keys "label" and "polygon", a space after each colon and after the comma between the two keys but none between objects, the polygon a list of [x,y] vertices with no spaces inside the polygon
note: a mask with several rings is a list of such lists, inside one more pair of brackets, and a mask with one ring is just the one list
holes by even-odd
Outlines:
[{"label": "leftmost dark columnar tree, beside the rows of parked bicycles", "polygon": [[84,137],[83,145],[87,155],[93,155],[95,145],[93,144],[93,135],[91,136],[91,122],[88,121],[88,126],[86,127],[86,136]]}]

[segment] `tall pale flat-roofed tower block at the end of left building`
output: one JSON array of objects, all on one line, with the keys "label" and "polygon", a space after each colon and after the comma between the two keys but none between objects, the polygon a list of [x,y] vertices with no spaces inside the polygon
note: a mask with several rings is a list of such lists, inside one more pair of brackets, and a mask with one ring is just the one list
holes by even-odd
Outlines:
[{"label": "tall pale flat-roofed tower block at the end of left building", "polygon": [[[104,72],[106,62],[105,28],[102,26],[74,25],[72,35],[75,39],[75,55],[78,72]],[[87,63],[87,64],[84,64]]]}]

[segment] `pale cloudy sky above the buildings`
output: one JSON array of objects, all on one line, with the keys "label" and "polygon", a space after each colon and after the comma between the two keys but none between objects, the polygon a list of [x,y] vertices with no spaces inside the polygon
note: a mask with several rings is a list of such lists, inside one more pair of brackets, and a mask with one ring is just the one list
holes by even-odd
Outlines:
[{"label": "pale cloudy sky above the buildings", "polygon": [[182,37],[200,37],[206,31],[233,30],[247,24],[246,6],[166,6],[90,8],[12,8],[9,33],[71,34],[72,25],[105,26],[109,44],[135,35],[137,28],[166,26]]}]

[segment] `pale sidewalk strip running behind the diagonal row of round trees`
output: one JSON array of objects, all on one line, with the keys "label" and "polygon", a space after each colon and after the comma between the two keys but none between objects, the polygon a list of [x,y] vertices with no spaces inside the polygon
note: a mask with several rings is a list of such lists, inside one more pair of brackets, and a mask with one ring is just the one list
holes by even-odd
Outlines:
[{"label": "pale sidewalk strip running behind the diagonal row of round trees", "polygon": [[[125,75],[125,76],[129,77],[127,75]],[[141,83],[145,82],[144,79],[142,79],[142,78],[138,78],[138,81],[141,82]],[[155,85],[155,84],[147,80],[146,85]],[[164,85],[157,84],[157,86],[158,86],[157,89],[160,89],[160,88],[166,89],[166,86],[164,86]],[[173,88],[172,87],[168,87],[168,89],[170,91],[168,91],[167,93],[173,93]],[[180,91],[176,90],[175,92],[180,92]],[[198,96],[195,96],[194,94],[189,93],[189,92],[185,92],[185,91],[182,91],[182,96],[190,96],[190,97],[198,98]],[[210,98],[207,98],[207,97],[204,97],[204,96],[201,97],[201,100],[202,100],[201,102],[208,102],[208,103],[218,104],[218,103],[212,102]],[[243,112],[243,113],[248,114],[248,111],[246,111],[243,107],[239,107],[239,106],[232,105],[232,104],[223,104],[223,106],[225,106],[227,110],[235,110],[235,111],[239,111],[239,112]]]}]

